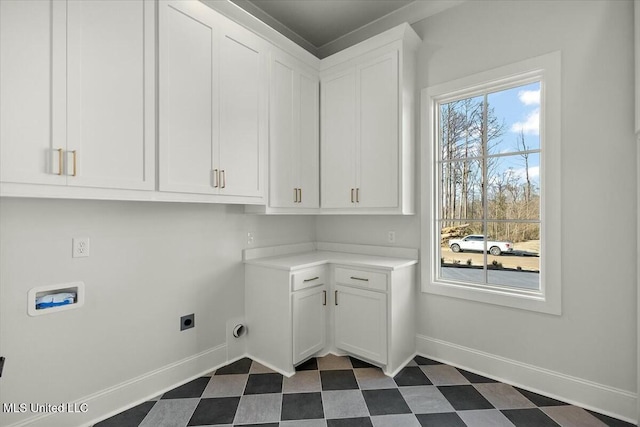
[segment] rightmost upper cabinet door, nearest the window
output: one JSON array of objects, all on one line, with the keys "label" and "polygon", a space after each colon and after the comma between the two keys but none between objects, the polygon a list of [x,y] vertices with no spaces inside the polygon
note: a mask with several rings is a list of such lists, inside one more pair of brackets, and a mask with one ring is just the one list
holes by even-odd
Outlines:
[{"label": "rightmost upper cabinet door, nearest the window", "polygon": [[358,207],[398,206],[398,51],[357,67]]}]

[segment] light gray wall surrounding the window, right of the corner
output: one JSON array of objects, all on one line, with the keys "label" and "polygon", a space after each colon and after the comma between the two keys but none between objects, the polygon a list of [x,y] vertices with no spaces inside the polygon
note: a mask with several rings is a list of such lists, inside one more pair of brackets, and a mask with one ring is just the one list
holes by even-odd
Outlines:
[{"label": "light gray wall surrounding the window, right of the corner", "polygon": [[[562,52],[562,315],[421,294],[419,334],[636,390],[632,6],[471,1],[413,25],[418,88]],[[319,217],[316,230],[374,245],[395,230],[397,246],[420,246],[419,217]]]}]

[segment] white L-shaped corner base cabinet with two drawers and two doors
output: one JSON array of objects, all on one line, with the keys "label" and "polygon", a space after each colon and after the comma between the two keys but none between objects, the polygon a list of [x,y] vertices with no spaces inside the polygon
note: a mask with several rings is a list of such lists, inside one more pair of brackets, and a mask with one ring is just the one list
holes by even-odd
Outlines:
[{"label": "white L-shaped corner base cabinet with two drawers and two doors", "polygon": [[344,263],[354,257],[312,252],[245,261],[248,355],[287,376],[327,353],[397,374],[415,355],[415,260]]}]

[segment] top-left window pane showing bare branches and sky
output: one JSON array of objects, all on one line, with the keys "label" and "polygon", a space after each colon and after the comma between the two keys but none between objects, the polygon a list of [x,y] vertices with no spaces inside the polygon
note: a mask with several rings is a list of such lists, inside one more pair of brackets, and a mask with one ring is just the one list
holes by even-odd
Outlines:
[{"label": "top-left window pane showing bare branches and sky", "polygon": [[440,158],[477,157],[480,145],[483,97],[440,104]]}]

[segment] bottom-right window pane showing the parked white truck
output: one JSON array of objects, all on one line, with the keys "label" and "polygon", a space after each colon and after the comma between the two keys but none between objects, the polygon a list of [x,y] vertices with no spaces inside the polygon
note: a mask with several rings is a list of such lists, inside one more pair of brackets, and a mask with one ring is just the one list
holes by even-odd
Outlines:
[{"label": "bottom-right window pane showing the parked white truck", "polygon": [[[490,285],[540,289],[540,225],[536,223],[488,223],[494,237],[487,241],[487,278]],[[492,231],[493,230],[493,231]],[[506,249],[512,244],[512,250]],[[491,250],[491,248],[499,248]],[[497,253],[500,252],[500,255]]]}]

